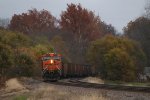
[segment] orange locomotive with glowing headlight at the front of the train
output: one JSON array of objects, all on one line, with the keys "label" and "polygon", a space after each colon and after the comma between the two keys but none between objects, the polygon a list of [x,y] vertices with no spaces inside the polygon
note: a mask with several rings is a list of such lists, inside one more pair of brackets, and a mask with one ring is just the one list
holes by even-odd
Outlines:
[{"label": "orange locomotive with glowing headlight at the front of the train", "polygon": [[58,80],[61,77],[62,60],[61,55],[48,53],[42,56],[42,76],[44,80]]}]

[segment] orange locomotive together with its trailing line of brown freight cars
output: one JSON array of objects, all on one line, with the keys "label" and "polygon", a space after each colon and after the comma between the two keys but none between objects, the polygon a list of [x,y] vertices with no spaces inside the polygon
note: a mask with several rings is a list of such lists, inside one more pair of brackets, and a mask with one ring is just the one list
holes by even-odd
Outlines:
[{"label": "orange locomotive together with its trailing line of brown freight cars", "polygon": [[63,63],[62,56],[56,53],[44,54],[42,61],[42,77],[44,80],[58,80],[61,77],[82,77],[91,75],[91,66],[83,64]]}]

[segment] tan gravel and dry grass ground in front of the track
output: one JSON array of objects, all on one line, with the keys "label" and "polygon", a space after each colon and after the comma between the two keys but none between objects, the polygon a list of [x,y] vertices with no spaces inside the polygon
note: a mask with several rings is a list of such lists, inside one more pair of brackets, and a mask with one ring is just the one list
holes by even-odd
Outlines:
[{"label": "tan gravel and dry grass ground in front of the track", "polygon": [[54,85],[31,78],[12,79],[7,85],[0,90],[0,100],[150,100],[150,93]]}]

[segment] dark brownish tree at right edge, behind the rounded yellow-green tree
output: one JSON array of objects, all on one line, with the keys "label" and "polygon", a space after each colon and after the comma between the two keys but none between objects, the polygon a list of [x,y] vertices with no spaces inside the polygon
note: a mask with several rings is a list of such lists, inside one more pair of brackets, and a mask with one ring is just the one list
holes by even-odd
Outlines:
[{"label": "dark brownish tree at right edge, behind the rounded yellow-green tree", "polygon": [[124,29],[125,36],[138,41],[146,54],[148,64],[150,66],[150,20],[140,17],[135,21],[131,21]]}]

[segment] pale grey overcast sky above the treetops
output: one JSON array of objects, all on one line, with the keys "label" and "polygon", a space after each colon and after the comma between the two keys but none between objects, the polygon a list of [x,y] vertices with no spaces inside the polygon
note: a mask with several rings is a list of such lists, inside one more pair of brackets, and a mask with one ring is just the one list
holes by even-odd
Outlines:
[{"label": "pale grey overcast sky above the treetops", "polygon": [[46,9],[59,18],[67,3],[80,3],[121,32],[129,21],[144,14],[146,0],[0,0],[0,18],[11,18],[32,8]]}]

